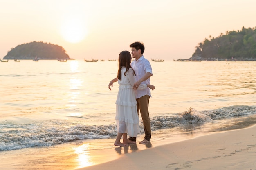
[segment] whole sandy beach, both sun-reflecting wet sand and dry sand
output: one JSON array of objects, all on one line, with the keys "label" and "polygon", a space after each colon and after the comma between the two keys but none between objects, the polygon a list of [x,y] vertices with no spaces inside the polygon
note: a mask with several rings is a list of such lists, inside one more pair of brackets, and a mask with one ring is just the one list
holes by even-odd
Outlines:
[{"label": "whole sandy beach, both sun-reflecting wet sand and dry sand", "polygon": [[[209,126],[209,125],[208,125]],[[150,143],[114,146],[115,137],[87,139],[54,146],[37,146],[0,152],[5,170],[93,170],[93,169],[253,169],[256,167],[256,125],[244,129],[202,132],[195,127],[153,132]],[[233,126],[234,127],[234,126]],[[240,127],[243,127],[240,125]],[[193,131],[191,131],[193,129]],[[210,127],[211,129],[211,127]],[[222,129],[223,130],[223,129]],[[19,159],[16,159],[19,157]],[[216,163],[215,163],[216,162]],[[236,165],[239,163],[240,166]],[[217,166],[218,165],[218,166]],[[234,168],[235,166],[235,168]],[[249,169],[249,170],[250,170]],[[256,170],[256,169],[254,169]]]}]

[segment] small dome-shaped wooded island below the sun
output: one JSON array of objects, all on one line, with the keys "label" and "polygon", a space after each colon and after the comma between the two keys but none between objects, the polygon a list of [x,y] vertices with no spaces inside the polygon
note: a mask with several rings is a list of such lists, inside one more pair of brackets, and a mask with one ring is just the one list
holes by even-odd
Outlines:
[{"label": "small dome-shaped wooded island below the sun", "polygon": [[70,59],[62,46],[43,42],[30,42],[21,44],[11,51],[3,59]]}]

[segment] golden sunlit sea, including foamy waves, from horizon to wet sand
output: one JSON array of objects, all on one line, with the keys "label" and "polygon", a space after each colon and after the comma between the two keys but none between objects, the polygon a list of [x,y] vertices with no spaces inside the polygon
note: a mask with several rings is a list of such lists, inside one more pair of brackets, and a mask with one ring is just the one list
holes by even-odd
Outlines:
[{"label": "golden sunlit sea, including foamy waves, from horizon to wet sand", "polygon": [[[255,61],[150,63],[153,133],[186,134],[189,127],[211,133],[256,123]],[[110,91],[108,83],[117,69],[117,61],[0,63],[0,152],[115,137],[119,85]]]}]

